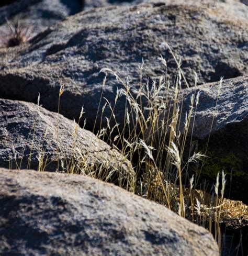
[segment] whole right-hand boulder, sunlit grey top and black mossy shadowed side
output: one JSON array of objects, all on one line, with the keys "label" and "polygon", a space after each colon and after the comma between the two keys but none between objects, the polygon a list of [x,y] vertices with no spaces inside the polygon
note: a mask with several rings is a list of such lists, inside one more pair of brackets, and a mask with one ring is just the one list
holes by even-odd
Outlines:
[{"label": "whole right-hand boulder, sunlit grey top and black mossy shadowed side", "polygon": [[197,111],[193,112],[190,121],[188,139],[190,140],[195,118],[193,141],[197,141],[197,146],[191,150],[205,152],[211,129],[207,150],[209,158],[205,159],[201,176],[215,184],[217,173],[224,170],[227,174],[226,196],[229,198],[231,195],[231,198],[247,204],[248,76],[223,80],[218,97],[219,88],[219,83],[216,82],[199,85],[196,90],[183,90],[182,121],[179,129],[183,133],[185,115],[189,113],[190,96],[200,92]]}]

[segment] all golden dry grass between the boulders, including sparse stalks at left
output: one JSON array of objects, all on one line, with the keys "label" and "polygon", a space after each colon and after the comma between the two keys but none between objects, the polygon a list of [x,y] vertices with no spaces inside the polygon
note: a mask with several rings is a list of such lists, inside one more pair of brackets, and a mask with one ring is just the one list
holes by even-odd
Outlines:
[{"label": "all golden dry grass between the boulders, including sparse stalks at left", "polygon": [[[171,49],[170,51],[173,54]],[[173,57],[175,58],[174,54]],[[166,73],[166,60],[162,57],[160,60]],[[193,148],[191,146],[195,123],[194,113],[199,104],[200,93],[195,91],[191,95],[188,113],[183,117],[180,108],[180,94],[182,82],[187,86],[188,83],[181,70],[181,60],[176,60],[176,63],[178,69],[173,83],[166,80],[167,76],[165,74],[154,80],[152,85],[149,82],[143,83],[142,63],[140,66],[140,88],[138,90],[132,88],[128,78],[125,80],[108,68],[101,70],[106,74],[106,77],[107,75],[114,75],[122,88],[117,90],[114,106],[111,105],[108,99],[101,97],[100,101],[105,101],[105,104],[100,109],[99,103],[97,114],[101,115],[103,120],[104,110],[108,107],[111,110],[111,116],[107,117],[107,126],[101,127],[95,133],[97,133],[98,138],[105,139],[119,150],[125,159],[129,159],[133,163],[136,176],[117,173],[116,170],[104,165],[95,168],[92,162],[88,161],[87,155],[82,154],[80,158],[75,157],[77,127],[83,116],[83,109],[78,122],[74,121],[75,132],[73,136],[75,144],[69,162],[61,162],[62,156],[59,148],[57,148],[57,171],[78,173],[104,181],[115,182],[130,192],[135,192],[144,198],[163,204],[178,215],[207,228],[213,233],[221,247],[221,223],[231,221],[232,218],[245,216],[247,206],[239,203],[234,204],[234,202],[223,198],[226,184],[223,172],[221,182],[218,174],[212,193],[207,193],[204,190],[206,184],[201,184],[203,189],[197,190],[199,185],[197,181],[206,158],[207,149],[205,152],[188,150],[186,160],[185,154],[187,147]],[[103,82],[103,90],[107,83],[106,77]],[[197,88],[196,85],[197,74],[195,74],[195,88]],[[219,92],[221,85],[222,79],[219,82]],[[65,88],[62,86],[59,93],[59,102],[64,90]],[[118,104],[120,97],[126,99],[126,111],[121,128],[115,115],[115,106]],[[212,118],[213,124],[215,116],[213,115]],[[102,121],[100,123],[102,124]],[[114,125],[111,126],[110,124],[113,123]],[[183,131],[178,129],[181,123],[184,124]],[[189,125],[191,124],[193,124],[193,130],[189,134]],[[60,139],[59,133],[58,118],[58,142]],[[118,145],[118,148],[116,145]],[[47,164],[47,161],[44,161],[46,159],[44,151],[41,151],[41,156],[39,158],[39,171],[46,170]],[[192,165],[197,166],[198,171],[195,174],[196,176],[190,177],[189,170]]]}]

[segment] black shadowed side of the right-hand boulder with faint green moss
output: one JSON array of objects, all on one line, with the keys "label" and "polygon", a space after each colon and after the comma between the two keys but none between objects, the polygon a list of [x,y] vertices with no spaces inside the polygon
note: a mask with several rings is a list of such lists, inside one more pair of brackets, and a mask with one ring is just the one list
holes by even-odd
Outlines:
[{"label": "black shadowed side of the right-hand boulder with faint green moss", "polygon": [[[242,123],[227,125],[222,131],[212,133],[206,153],[208,158],[204,161],[199,179],[199,183],[207,181],[215,184],[218,172],[223,170],[227,182],[224,197],[242,201],[244,204],[248,203],[247,125],[246,119]],[[195,152],[205,152],[206,143],[207,138],[198,140]]]}]

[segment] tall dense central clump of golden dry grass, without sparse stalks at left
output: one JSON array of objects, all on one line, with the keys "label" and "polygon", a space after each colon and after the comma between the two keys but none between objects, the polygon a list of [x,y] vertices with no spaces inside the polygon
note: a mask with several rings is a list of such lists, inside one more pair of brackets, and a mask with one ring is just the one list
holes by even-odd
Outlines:
[{"label": "tall dense central clump of golden dry grass, without sparse stalks at left", "polygon": [[[161,57],[160,60],[166,70],[165,59]],[[114,75],[122,84],[123,88],[117,91],[117,99],[121,96],[126,98],[126,113],[123,119],[125,135],[122,129],[121,131],[118,129],[114,110],[112,118],[115,122],[115,128],[113,128],[115,132],[111,130],[111,133],[117,133],[115,140],[121,144],[121,153],[127,155],[131,162],[136,163],[138,175],[134,191],[205,227],[213,233],[221,247],[221,224],[226,223],[224,216],[228,209],[227,201],[223,198],[226,178],[223,172],[221,179],[218,174],[211,193],[196,189],[199,186],[200,172],[207,157],[207,149],[203,153],[187,149],[194,148],[192,147],[194,114],[199,104],[200,92],[195,91],[191,95],[188,113],[183,117],[180,94],[182,82],[188,84],[180,68],[181,61],[177,61],[177,64],[178,69],[173,84],[166,80],[165,75],[153,81],[152,86],[149,83],[142,83],[141,65],[139,90],[134,90],[129,80],[121,79],[116,72],[110,69],[102,70],[106,74]],[[197,75],[195,74],[195,88],[197,88],[196,85]],[[219,82],[216,106],[221,86],[222,79]],[[109,102],[107,105],[111,110],[115,109],[115,106],[111,106]],[[210,130],[214,118],[215,115],[212,117]],[[182,123],[184,128],[179,130]],[[191,124],[193,124],[193,129],[189,134]],[[137,154],[138,162],[135,161]],[[187,159],[185,159],[186,154]],[[197,172],[195,177],[190,178],[189,170],[193,165],[197,166]],[[201,187],[206,187],[206,184],[201,184]]]}]

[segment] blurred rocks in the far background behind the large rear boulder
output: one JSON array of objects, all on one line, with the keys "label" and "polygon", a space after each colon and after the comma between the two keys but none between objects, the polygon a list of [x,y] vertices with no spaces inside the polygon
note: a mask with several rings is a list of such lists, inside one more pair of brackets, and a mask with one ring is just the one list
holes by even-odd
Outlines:
[{"label": "blurred rocks in the far background behind the large rear boulder", "polygon": [[[182,4],[209,4],[216,0],[2,0],[0,2],[0,28],[6,25],[6,18],[12,23],[20,20],[24,25],[32,26],[35,32],[42,31],[47,27],[58,23],[67,16],[81,12],[83,9],[92,9],[111,5],[135,5],[144,2],[164,2]],[[219,0],[219,2],[223,2]],[[225,3],[237,5],[237,2],[247,4],[247,0],[226,0]],[[226,6],[226,5],[224,5]],[[233,8],[232,8],[233,9]],[[236,12],[235,8],[235,12]],[[1,26],[2,25],[2,26]]]}]

